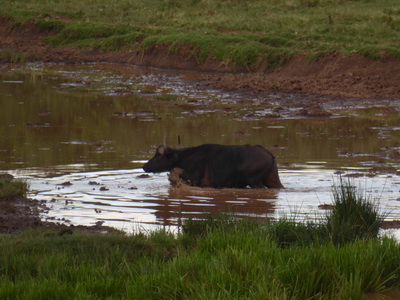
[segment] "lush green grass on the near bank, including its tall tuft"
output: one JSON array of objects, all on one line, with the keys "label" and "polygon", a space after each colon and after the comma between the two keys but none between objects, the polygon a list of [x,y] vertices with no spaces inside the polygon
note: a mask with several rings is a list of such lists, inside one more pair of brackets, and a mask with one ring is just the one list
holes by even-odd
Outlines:
[{"label": "lush green grass on the near bank, including its tall tuft", "polygon": [[[350,182],[325,222],[210,217],[179,234],[0,236],[1,299],[362,299],[399,288],[400,245]],[[342,209],[346,207],[346,209]]]}]

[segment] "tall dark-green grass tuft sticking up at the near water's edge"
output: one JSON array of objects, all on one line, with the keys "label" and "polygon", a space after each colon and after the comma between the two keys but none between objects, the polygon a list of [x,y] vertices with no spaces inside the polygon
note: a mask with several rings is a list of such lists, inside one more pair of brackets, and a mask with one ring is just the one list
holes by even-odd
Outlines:
[{"label": "tall dark-green grass tuft sticking up at the near water's edge", "polygon": [[327,215],[327,230],[334,244],[376,238],[383,221],[375,201],[367,199],[350,180],[334,187],[334,206]]}]

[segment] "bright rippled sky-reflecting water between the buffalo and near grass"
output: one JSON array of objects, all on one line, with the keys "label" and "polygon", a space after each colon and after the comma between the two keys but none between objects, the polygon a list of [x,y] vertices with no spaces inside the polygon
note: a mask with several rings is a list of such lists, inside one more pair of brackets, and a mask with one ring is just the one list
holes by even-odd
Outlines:
[{"label": "bright rippled sky-reflecting water between the buffalo and near grass", "polygon": [[[30,197],[46,201],[50,210],[44,218],[75,225],[100,221],[129,232],[175,226],[182,219],[219,211],[254,217],[319,218],[326,212],[319,206],[332,203],[332,189],[339,184],[339,177],[335,170],[323,169],[317,162],[298,167],[301,169],[280,170],[286,188],[279,191],[171,188],[166,173],[147,177],[141,169],[79,172],[51,178],[41,177],[43,174],[32,169],[13,174],[28,179]],[[360,169],[356,171],[362,173]],[[362,195],[379,202],[386,220],[400,219],[398,176],[363,176],[351,182]]]}]

